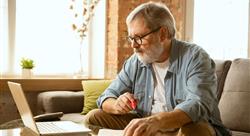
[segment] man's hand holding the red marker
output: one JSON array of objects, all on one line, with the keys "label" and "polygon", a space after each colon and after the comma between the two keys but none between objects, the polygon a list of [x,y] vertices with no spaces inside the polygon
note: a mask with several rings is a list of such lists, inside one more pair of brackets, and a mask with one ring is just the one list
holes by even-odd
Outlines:
[{"label": "man's hand holding the red marker", "polygon": [[124,93],[120,95],[117,99],[108,98],[102,104],[102,109],[107,113],[112,114],[126,114],[133,110],[131,103],[135,102],[136,99],[131,93]]}]

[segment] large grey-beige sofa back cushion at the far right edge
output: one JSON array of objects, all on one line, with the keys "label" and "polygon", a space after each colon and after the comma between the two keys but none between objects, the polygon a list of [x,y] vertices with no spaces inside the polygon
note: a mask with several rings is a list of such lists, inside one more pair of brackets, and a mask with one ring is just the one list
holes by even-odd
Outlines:
[{"label": "large grey-beige sofa back cushion at the far right edge", "polygon": [[226,127],[250,132],[250,59],[236,59],[232,62],[219,109]]}]

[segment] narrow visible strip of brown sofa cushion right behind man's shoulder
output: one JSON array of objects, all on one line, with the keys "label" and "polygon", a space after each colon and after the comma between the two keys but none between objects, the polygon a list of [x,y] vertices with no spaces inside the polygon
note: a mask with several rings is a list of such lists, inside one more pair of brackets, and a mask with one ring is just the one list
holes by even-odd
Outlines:
[{"label": "narrow visible strip of brown sofa cushion right behind man's shoulder", "polygon": [[232,61],[230,60],[214,60],[216,64],[217,75],[217,98],[220,100],[224,88],[224,82],[227,77],[227,72],[230,68]]}]

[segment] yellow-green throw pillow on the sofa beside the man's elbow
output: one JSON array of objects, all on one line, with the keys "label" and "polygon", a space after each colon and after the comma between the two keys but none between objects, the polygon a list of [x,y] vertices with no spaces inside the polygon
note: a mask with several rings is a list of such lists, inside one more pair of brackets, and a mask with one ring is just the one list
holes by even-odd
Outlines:
[{"label": "yellow-green throw pillow on the sofa beside the man's elbow", "polygon": [[87,114],[97,108],[96,100],[110,85],[112,80],[84,80],[82,81],[84,93],[84,106],[81,114]]}]

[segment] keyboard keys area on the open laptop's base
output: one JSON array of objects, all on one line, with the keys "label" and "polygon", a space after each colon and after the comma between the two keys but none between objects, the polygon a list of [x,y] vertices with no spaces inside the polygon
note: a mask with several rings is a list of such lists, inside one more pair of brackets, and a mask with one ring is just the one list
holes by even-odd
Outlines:
[{"label": "keyboard keys area on the open laptop's base", "polygon": [[64,129],[56,126],[52,122],[43,122],[43,123],[36,123],[36,124],[37,124],[39,132],[43,132],[43,133],[65,132]]}]

